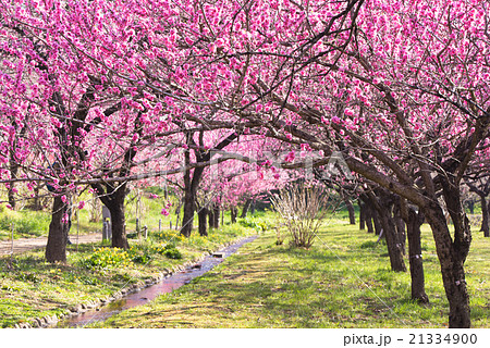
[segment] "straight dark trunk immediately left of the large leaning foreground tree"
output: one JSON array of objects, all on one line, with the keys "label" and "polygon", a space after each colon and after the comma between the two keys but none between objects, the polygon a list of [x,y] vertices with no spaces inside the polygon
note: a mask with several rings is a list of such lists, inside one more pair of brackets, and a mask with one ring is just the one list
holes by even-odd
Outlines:
[{"label": "straight dark trunk immediately left of the large leaning foreground tree", "polygon": [[421,254],[420,226],[424,223],[424,214],[408,208],[405,215],[408,237],[408,262],[411,266],[412,299],[419,303],[429,303],[426,294],[426,281],[424,276],[424,261]]}]

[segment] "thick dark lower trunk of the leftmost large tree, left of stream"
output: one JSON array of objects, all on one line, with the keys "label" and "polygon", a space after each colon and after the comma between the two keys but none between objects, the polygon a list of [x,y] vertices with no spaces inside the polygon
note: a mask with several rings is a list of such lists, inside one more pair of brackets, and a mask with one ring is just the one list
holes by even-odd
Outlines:
[{"label": "thick dark lower trunk of the leftmost large tree, left of stream", "polygon": [[57,195],[52,202],[51,222],[49,224],[48,244],[46,245],[46,260],[48,262],[66,262],[68,222],[63,217],[68,215],[68,204]]}]

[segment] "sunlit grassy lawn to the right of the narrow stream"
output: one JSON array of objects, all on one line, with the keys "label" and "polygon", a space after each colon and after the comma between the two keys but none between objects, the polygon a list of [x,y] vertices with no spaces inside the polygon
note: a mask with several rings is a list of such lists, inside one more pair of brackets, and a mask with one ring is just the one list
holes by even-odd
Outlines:
[{"label": "sunlit grassy lawn to the right of the narrow stream", "polygon": [[[310,250],[287,239],[277,246],[267,232],[191,284],[93,326],[446,327],[433,239],[422,227],[429,306],[411,301],[409,273],[390,271],[375,236],[332,220]],[[490,240],[475,232],[466,263],[475,327],[490,326],[489,254]]]}]

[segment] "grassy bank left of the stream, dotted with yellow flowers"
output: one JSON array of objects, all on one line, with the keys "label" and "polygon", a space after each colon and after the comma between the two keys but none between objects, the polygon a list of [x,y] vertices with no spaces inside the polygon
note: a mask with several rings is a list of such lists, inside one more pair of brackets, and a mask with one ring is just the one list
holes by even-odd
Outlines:
[{"label": "grassy bank left of the stream, dotted with yellow flowers", "polygon": [[[130,239],[127,251],[97,245],[69,246],[66,264],[45,262],[44,250],[0,259],[0,327],[66,312],[71,306],[106,298],[164,269],[197,259],[204,252],[256,229],[235,224],[189,239],[175,231],[150,232],[148,240]],[[181,258],[179,259],[179,256]]]}]

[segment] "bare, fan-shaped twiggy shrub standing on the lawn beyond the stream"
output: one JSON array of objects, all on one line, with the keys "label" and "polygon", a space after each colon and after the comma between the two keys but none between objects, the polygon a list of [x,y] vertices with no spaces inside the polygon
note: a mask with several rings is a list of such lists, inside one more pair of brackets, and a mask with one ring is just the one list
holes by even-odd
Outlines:
[{"label": "bare, fan-shaped twiggy shrub standing on the lawn beyond the stream", "polygon": [[309,248],[328,212],[328,190],[319,186],[293,184],[272,196],[271,200],[295,247]]}]

